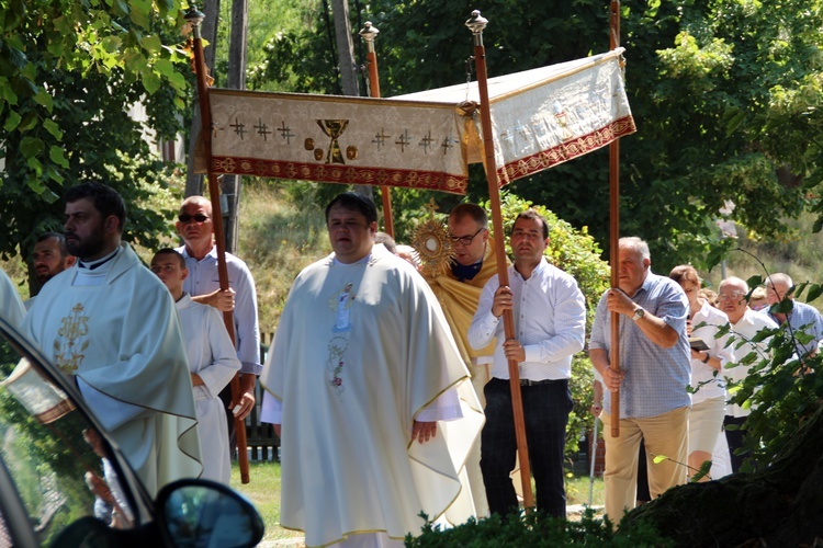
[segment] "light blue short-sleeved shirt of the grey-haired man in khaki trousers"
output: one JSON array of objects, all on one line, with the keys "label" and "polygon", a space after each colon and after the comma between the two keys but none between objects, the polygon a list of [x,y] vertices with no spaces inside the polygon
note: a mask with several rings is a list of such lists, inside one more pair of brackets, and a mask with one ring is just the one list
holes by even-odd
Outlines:
[{"label": "light blue short-sleeved shirt of the grey-haired man in khaki trousers", "polygon": [[[608,293],[608,292],[607,292]],[[691,352],[686,335],[689,301],[680,285],[650,270],[632,300],[661,318],[680,334],[670,349],[653,343],[628,316],[620,315],[620,418],[656,416],[691,406],[686,387],[691,381]],[[610,352],[611,312],[606,294],[600,298],[591,326],[589,347]],[[604,409],[611,414],[611,391],[606,390]]]}]

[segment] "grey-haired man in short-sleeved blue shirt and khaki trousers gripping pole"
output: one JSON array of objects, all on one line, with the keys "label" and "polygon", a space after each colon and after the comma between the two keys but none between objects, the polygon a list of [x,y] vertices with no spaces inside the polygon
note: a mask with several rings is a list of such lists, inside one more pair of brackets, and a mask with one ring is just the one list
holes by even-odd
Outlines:
[{"label": "grey-haired man in short-sleeved blue shirt and khaki trousers gripping pole", "polygon": [[[649,246],[620,239],[619,284],[602,296],[591,327],[589,356],[604,378],[606,514],[619,522],[634,507],[638,448],[645,441],[649,489],[657,498],[686,482],[691,378],[686,335],[688,299],[679,284],[651,271]],[[613,267],[613,266],[612,266]],[[612,370],[611,316],[620,320],[620,370]],[[611,436],[611,392],[620,390],[620,435]],[[668,459],[654,464],[654,456]]]}]

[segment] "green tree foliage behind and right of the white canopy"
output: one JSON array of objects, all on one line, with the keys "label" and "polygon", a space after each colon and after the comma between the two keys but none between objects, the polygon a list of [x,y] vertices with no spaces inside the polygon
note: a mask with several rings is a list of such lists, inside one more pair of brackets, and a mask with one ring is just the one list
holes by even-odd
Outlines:
[{"label": "green tree foliage behind and right of the white canopy", "polygon": [[[376,41],[383,95],[465,81],[473,54],[454,0],[375,1],[361,20]],[[608,48],[608,2],[496,1],[477,5],[489,76]],[[334,92],[326,14],[267,46],[266,78]],[[621,228],[650,241],[658,270],[707,266],[724,201],[752,235],[820,205],[823,35],[820,0],[622,2],[627,90],[638,134],[621,141]],[[473,78],[473,76],[472,76]],[[485,195],[474,173],[470,196]],[[512,183],[512,192],[608,241],[608,153],[600,150]],[[402,191],[397,191],[402,192]],[[424,199],[426,202],[427,199]]]}]

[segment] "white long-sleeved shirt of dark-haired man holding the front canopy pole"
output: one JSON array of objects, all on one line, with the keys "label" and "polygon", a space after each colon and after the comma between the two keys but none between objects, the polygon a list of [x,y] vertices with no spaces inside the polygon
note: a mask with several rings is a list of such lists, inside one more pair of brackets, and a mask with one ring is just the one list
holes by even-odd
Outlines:
[{"label": "white long-sleeved shirt of dark-haired man holding the front canopy pole", "polygon": [[[509,266],[509,288],[514,294],[515,338],[526,351],[520,378],[529,380],[564,379],[572,376],[572,356],[583,350],[586,338],[586,301],[573,276],[542,259],[529,279]],[[469,328],[469,344],[483,349],[497,336],[492,376],[509,378],[508,361],[503,352],[503,318],[492,313],[495,275],[483,287],[477,311]]]}]

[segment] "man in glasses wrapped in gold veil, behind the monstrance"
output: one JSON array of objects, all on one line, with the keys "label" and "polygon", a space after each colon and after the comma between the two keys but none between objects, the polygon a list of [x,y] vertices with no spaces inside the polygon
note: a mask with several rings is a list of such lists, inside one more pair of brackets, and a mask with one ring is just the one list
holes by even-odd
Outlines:
[{"label": "man in glasses wrapped in gold veil, behind the monstrance", "polygon": [[[481,350],[469,344],[469,326],[477,309],[481,292],[492,276],[497,274],[494,241],[488,236],[488,216],[476,204],[460,204],[449,214],[448,230],[454,249],[451,264],[440,275],[426,275],[435,292],[463,362],[472,374],[472,386],[481,404],[485,407],[483,387],[489,379],[489,364],[494,355],[494,341]],[[480,439],[466,463],[472,496],[478,516],[488,515],[488,502],[480,469]]]}]

